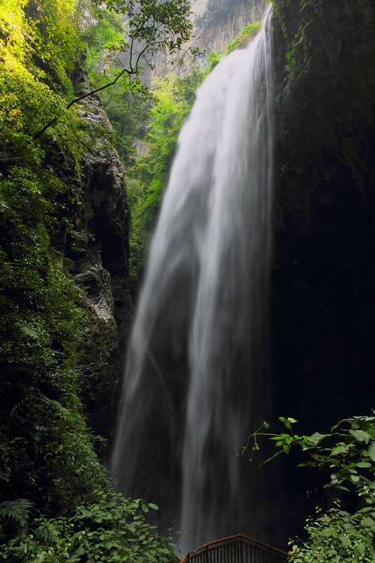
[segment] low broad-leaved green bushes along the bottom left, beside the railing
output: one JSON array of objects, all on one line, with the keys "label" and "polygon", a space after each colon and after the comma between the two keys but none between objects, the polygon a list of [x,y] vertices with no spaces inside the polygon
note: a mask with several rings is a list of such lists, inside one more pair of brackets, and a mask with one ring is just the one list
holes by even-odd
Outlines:
[{"label": "low broad-leaved green bushes along the bottom left, beside the railing", "polygon": [[0,556],[4,563],[174,562],[175,546],[146,521],[150,508],[158,510],[140,499],[96,491],[95,502],[78,506],[70,518],[34,519],[29,529],[0,545]]}]

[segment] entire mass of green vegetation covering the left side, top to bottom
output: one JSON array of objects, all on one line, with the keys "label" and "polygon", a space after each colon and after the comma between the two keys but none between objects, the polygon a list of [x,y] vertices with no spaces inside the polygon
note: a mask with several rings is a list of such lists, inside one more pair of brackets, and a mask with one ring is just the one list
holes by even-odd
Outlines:
[{"label": "entire mass of green vegetation covering the left side, top to bottom", "polygon": [[[141,58],[110,66],[117,51],[189,35],[189,5],[76,0],[4,0],[0,6],[0,547],[4,561],[169,561],[167,540],[146,524],[148,505],[117,498],[98,460],[80,400],[86,336],[84,294],[68,255],[82,159],[108,129],[84,120],[74,76],[108,48],[93,89],[126,77],[141,89]],[[120,15],[130,18],[127,40]],[[150,24],[151,22],[151,24]],[[116,27],[117,26],[117,27]],[[141,27],[141,29],[140,29]],[[129,77],[132,80],[129,80]],[[120,80],[117,80],[120,82]],[[136,94],[134,94],[136,96]],[[126,102],[125,102],[126,103]],[[134,129],[132,125],[130,128]],[[133,130],[132,129],[132,130]],[[128,143],[129,144],[129,143]],[[78,245],[79,246],[79,245]],[[153,509],[154,505],[149,505]]]}]

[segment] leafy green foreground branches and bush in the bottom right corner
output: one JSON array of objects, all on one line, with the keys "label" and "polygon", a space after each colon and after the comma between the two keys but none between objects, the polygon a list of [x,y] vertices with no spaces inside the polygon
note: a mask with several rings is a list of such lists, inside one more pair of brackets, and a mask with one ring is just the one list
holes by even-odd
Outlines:
[{"label": "leafy green foreground branches and bush in the bottom right corner", "polygon": [[[333,506],[307,520],[308,540],[293,542],[291,561],[295,563],[359,563],[375,560],[375,416],[343,419],[329,434],[316,432],[312,436],[294,434],[292,418],[284,422],[281,434],[269,434],[269,425],[249,436],[242,453],[259,450],[258,438],[271,436],[279,448],[288,454],[299,447],[310,459],[302,465],[317,467],[330,475],[324,488],[331,489]],[[253,454],[251,454],[253,455]],[[269,460],[267,460],[268,462]],[[345,503],[355,506],[350,512]]]}]

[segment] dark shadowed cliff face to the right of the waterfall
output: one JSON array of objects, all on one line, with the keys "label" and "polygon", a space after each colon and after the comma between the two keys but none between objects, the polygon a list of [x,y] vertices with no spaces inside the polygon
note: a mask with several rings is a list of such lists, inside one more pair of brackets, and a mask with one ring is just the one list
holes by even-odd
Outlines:
[{"label": "dark shadowed cliff face to the right of the waterfall", "polygon": [[[375,12],[370,0],[274,12],[271,369],[277,416],[308,434],[374,407]],[[303,503],[312,477],[292,471],[287,492]]]}]

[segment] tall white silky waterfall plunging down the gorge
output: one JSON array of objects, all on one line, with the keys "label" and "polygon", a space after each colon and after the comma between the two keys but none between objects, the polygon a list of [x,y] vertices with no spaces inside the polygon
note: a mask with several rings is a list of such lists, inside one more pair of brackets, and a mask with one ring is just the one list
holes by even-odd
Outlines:
[{"label": "tall white silky waterfall plunging down the gorge", "polygon": [[249,533],[258,488],[236,452],[269,414],[271,17],[269,6],[260,34],[198,89],[129,341],[115,477],[142,492],[150,463],[179,490],[182,550]]}]

